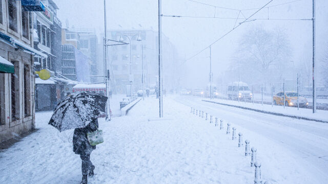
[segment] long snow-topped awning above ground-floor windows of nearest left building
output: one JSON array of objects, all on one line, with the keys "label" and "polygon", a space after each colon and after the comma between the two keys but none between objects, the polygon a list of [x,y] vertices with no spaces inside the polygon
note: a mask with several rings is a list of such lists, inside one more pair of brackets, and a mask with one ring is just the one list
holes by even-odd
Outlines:
[{"label": "long snow-topped awning above ground-floor windows of nearest left building", "polygon": [[31,55],[34,55],[35,57],[42,57],[42,58],[47,58],[48,56],[46,54],[43,54],[42,52],[39,52],[35,49],[33,49],[32,47],[30,47],[29,45],[18,41],[17,39],[10,37],[4,33],[0,32],[0,40],[11,45],[12,47],[16,48],[16,49],[20,49],[26,53],[29,53]]}]

